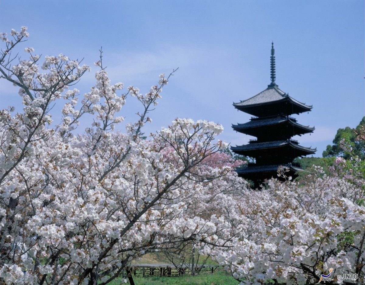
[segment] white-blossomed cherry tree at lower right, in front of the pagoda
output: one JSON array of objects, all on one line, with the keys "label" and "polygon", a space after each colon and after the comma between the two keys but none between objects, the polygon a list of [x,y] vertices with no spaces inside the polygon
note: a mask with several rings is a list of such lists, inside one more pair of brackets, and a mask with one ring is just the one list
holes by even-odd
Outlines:
[{"label": "white-blossomed cherry tree at lower right, in front of the pagoda", "polygon": [[230,209],[236,239],[205,253],[242,284],[318,284],[330,272],[336,284],[364,284],[364,177],[316,172],[305,185],[270,180],[268,189],[244,190]]}]

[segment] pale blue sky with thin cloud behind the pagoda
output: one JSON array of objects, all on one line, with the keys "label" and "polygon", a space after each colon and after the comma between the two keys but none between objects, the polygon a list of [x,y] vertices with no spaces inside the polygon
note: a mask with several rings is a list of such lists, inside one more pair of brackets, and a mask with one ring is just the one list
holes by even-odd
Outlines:
[{"label": "pale blue sky with thin cloud behind the pagoda", "polygon": [[[30,33],[24,47],[84,58],[92,72],[76,86],[82,94],[95,82],[92,64],[101,46],[112,82],[143,93],[160,73],[178,67],[145,132],[176,117],[212,120],[223,124],[220,138],[233,146],[251,137],[231,124],[251,116],[232,103],[270,84],[274,41],[279,88],[313,105],[309,114],[294,116],[316,130],[296,139],[317,147],[320,157],[338,128],[356,127],[365,115],[364,11],[362,0],[0,0],[0,31],[24,25]],[[20,101],[18,90],[1,80],[0,107],[20,110]],[[121,115],[134,121],[137,111],[129,98]]]}]

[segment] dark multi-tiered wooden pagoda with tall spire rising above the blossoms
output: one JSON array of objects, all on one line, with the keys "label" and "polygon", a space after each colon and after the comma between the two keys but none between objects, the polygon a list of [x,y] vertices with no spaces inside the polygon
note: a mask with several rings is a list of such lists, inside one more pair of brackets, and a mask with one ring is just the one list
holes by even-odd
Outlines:
[{"label": "dark multi-tiered wooden pagoda with tall spire rising above the blossoms", "polygon": [[232,124],[232,128],[257,139],[251,139],[247,145],[231,147],[231,150],[254,158],[254,163],[237,169],[237,173],[240,177],[252,180],[255,187],[265,179],[278,177],[280,166],[286,167],[287,176],[296,177],[295,173],[303,169],[293,165],[293,159],[316,152],[316,149],[300,146],[296,140],[291,139],[292,136],[314,131],[314,127],[303,126],[291,117],[294,113],[299,115],[311,111],[312,106],[293,99],[278,88],[275,83],[274,53],[274,43],[272,43],[271,84],[268,88],[247,100],[233,103],[236,109],[254,116],[247,123]]}]

